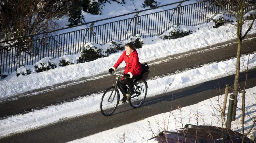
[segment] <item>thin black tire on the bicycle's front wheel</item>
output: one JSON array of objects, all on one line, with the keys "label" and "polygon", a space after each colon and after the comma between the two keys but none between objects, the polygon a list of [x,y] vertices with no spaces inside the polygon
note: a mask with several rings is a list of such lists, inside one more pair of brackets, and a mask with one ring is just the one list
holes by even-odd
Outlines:
[{"label": "thin black tire on the bicycle's front wheel", "polygon": [[[113,90],[113,92],[112,92],[111,90]],[[110,97],[109,97],[109,96],[106,97],[106,93],[108,93],[109,91],[111,91]],[[113,95],[114,91],[116,91],[116,95],[115,95],[115,96],[117,96],[117,101],[116,101],[116,104],[113,105],[113,110],[111,110],[109,113],[107,113],[107,112],[103,109],[102,104],[103,104],[104,99],[106,99],[106,98],[111,98],[111,96]],[[106,98],[104,98],[104,97],[106,97]],[[115,98],[115,97],[114,97],[114,98]],[[117,106],[118,106],[119,100],[120,100],[120,94],[119,94],[118,89],[115,90],[115,86],[112,86],[112,87],[106,89],[106,91],[105,91],[104,94],[102,95],[101,101],[100,101],[100,111],[101,111],[101,113],[102,113],[104,116],[110,116],[110,115],[112,115],[112,114],[115,112],[115,110],[116,110],[116,108],[117,108]],[[109,102],[109,101],[107,100],[107,102]],[[111,103],[111,102],[110,102],[110,103]],[[113,102],[113,103],[114,103],[114,102]]]}]

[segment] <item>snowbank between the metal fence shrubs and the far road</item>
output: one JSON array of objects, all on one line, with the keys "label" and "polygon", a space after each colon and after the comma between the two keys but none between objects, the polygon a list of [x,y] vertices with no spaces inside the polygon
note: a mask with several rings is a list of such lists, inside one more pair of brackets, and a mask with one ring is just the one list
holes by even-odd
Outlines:
[{"label": "snowbank between the metal fence shrubs and the far road", "polygon": [[[247,21],[243,25],[243,29],[247,29],[250,23],[251,21]],[[197,32],[179,39],[145,38],[143,39],[143,47],[137,49],[139,60],[144,63],[236,38],[236,29],[231,25],[221,26],[217,29],[210,28],[211,26],[211,22],[196,26],[200,28]],[[184,27],[184,29],[186,28],[191,29]],[[245,31],[243,31],[244,33]],[[254,22],[248,34],[253,33],[256,33],[256,22]],[[0,81],[0,101],[34,89],[104,73],[114,65],[120,54],[121,52],[113,53],[108,57],[99,58],[91,62],[57,67],[46,72],[33,73],[27,76],[17,77],[16,72],[13,72],[10,76]],[[124,66],[123,62],[119,68]]]}]

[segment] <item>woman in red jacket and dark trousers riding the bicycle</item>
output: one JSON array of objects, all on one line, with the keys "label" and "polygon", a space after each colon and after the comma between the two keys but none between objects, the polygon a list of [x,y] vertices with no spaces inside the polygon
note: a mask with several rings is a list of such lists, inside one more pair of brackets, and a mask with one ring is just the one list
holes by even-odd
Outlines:
[{"label": "woman in red jacket and dark trousers riding the bicycle", "polygon": [[127,101],[127,99],[133,95],[134,90],[133,90],[133,84],[131,79],[134,78],[136,79],[137,76],[141,74],[141,63],[139,62],[139,57],[136,49],[134,48],[132,43],[127,43],[125,44],[125,51],[123,54],[120,56],[120,58],[117,60],[115,65],[109,69],[109,73],[113,74],[113,72],[116,72],[117,67],[125,61],[126,67],[124,71],[124,78],[121,80],[121,86],[122,90],[125,92],[125,86],[126,84],[128,85],[129,91],[126,93],[126,96],[124,96],[121,99],[121,103],[124,103]]}]

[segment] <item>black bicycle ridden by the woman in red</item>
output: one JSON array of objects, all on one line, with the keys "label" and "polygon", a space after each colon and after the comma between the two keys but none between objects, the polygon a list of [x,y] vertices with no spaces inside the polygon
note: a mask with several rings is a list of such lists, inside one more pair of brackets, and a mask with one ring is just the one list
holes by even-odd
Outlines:
[{"label": "black bicycle ridden by the woman in red", "polygon": [[[146,77],[148,76],[148,73],[149,71],[146,72]],[[122,92],[123,96],[126,96],[125,95],[126,91],[128,91],[127,86],[125,86],[126,91],[122,91],[122,89],[120,88],[120,84],[122,83],[119,81],[119,78],[121,77],[123,78],[123,75],[116,74],[116,73],[114,74],[118,76],[116,77],[117,79],[116,83],[110,88],[106,89],[100,101],[100,111],[104,116],[110,116],[115,112],[120,100],[120,94],[119,94],[118,88]],[[133,83],[134,94],[130,98],[128,98],[128,101],[133,108],[138,108],[143,104],[143,102],[146,99],[147,82],[145,78],[143,78],[142,76],[141,79],[132,79],[132,83]],[[105,104],[110,104],[110,106],[105,108],[104,106]]]}]

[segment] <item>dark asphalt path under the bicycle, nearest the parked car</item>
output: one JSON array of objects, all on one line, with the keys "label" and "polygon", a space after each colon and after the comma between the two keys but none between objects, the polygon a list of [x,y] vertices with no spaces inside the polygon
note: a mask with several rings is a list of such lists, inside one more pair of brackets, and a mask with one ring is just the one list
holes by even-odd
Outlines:
[{"label": "dark asphalt path under the bicycle, nearest the parked car", "polygon": [[[243,89],[246,73],[240,74],[240,86]],[[248,73],[246,89],[256,86],[256,69]],[[215,97],[224,93],[226,84],[232,85],[234,75],[218,80],[204,82],[189,88],[176,90],[147,98],[139,108],[123,104],[112,116],[105,117],[101,112],[91,113],[49,125],[41,129],[16,134],[0,139],[1,143],[62,143],[83,138],[124,124],[136,122],[155,114],[170,111],[171,106],[182,107]],[[218,89],[221,87],[221,92]],[[173,102],[171,102],[173,100]],[[172,103],[172,104],[171,104]]]}]

